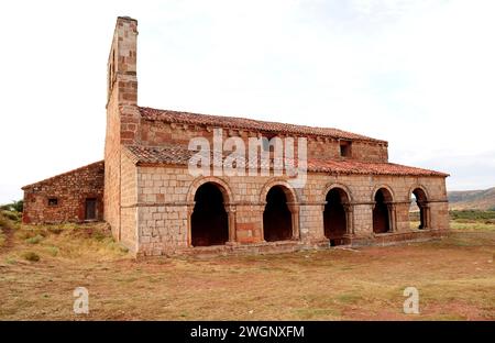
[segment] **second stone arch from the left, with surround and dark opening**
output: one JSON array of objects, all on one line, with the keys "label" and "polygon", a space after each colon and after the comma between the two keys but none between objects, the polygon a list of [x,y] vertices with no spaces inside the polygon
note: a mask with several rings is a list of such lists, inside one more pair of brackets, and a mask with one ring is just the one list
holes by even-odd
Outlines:
[{"label": "second stone arch from the left, with surround and dark opening", "polygon": [[299,203],[290,185],[283,179],[266,182],[260,192],[264,204],[262,236],[267,242],[299,240]]}]

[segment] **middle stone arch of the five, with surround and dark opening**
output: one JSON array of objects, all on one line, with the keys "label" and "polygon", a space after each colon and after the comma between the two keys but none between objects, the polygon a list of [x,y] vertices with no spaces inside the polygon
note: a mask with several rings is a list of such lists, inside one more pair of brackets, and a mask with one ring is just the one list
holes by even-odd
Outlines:
[{"label": "middle stone arch of the five, with surround and dark opening", "polygon": [[341,184],[326,187],[323,207],[323,231],[330,245],[345,244],[353,232],[351,195],[349,188]]}]

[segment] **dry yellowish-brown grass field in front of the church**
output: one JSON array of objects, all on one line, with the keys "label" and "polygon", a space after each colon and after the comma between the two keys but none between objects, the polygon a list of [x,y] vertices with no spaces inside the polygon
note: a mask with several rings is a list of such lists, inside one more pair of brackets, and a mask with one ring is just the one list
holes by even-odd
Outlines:
[{"label": "dry yellowish-brown grass field in front of the church", "polygon": [[[135,261],[105,225],[0,235],[0,320],[495,320],[495,224],[427,243]],[[76,287],[89,314],[73,312]],[[404,314],[403,290],[420,314]]]}]

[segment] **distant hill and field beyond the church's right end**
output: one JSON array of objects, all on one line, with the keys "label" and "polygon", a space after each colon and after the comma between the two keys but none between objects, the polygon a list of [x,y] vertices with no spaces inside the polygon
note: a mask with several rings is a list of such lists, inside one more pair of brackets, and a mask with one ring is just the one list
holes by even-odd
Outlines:
[{"label": "distant hill and field beyond the church's right end", "polygon": [[495,210],[495,187],[447,192],[451,210]]}]

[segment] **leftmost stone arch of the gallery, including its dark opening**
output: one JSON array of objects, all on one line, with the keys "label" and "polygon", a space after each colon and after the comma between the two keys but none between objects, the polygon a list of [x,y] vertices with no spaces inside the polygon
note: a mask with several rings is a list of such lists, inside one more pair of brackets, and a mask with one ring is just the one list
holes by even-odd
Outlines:
[{"label": "leftmost stone arch of the gallery, including its dark opening", "polygon": [[[208,193],[201,195],[202,191]],[[227,181],[213,176],[199,177],[190,185],[186,200],[189,246],[235,242],[235,206],[233,192]]]}]

